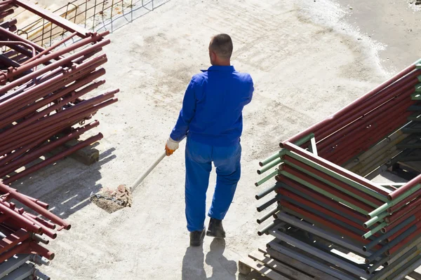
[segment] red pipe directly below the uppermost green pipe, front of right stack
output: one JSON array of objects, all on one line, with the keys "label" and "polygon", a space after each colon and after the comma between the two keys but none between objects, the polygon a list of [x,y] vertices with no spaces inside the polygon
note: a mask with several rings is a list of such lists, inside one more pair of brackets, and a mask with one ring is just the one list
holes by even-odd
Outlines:
[{"label": "red pipe directly below the uppermost green pipe, front of right stack", "polygon": [[[344,190],[348,190],[351,193],[354,193],[355,195],[358,195],[359,197],[362,197],[365,200],[368,200],[369,202],[372,202],[373,204],[377,205],[377,207],[380,207],[384,202],[377,200],[377,198],[372,197],[368,195],[367,193],[363,193],[363,191],[358,190],[356,188],[353,188],[352,186],[347,185],[346,183],[343,183],[342,181],[335,179],[327,174],[324,174],[323,172],[320,172],[319,170],[310,167],[308,165],[303,164],[299,160],[295,160],[294,158],[291,158],[289,155],[284,155],[284,160],[291,162],[293,165],[297,165],[298,167],[301,167],[302,169],[307,170],[311,174],[314,174],[316,176],[319,176],[327,181],[330,181],[330,183],[334,183],[337,186],[340,186],[340,188],[343,188]],[[288,164],[288,163],[287,163]]]}]

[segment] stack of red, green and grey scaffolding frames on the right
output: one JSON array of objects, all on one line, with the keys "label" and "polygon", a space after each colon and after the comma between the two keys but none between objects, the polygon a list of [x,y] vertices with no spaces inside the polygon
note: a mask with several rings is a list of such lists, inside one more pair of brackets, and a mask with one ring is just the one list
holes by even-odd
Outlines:
[{"label": "stack of red, green and grey scaffolding frames on the right", "polygon": [[333,279],[403,279],[421,265],[421,175],[396,185],[368,179],[396,162],[421,161],[409,156],[421,148],[420,62],[260,162],[258,174],[277,167],[256,183],[276,179],[256,195],[275,193],[258,207],[276,205],[258,219],[274,218],[258,232],[275,237],[268,251]]}]

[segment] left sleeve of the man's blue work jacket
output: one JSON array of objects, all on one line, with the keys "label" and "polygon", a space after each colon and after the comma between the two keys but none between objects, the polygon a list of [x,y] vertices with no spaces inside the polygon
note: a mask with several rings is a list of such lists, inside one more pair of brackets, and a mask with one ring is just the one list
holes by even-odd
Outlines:
[{"label": "left sleeve of the man's blue work jacket", "polygon": [[185,97],[182,101],[182,109],[180,115],[178,116],[177,123],[171,132],[171,139],[174,141],[181,141],[183,137],[189,131],[189,125],[194,117],[196,112],[196,96],[194,94],[194,78],[190,80],[187,90],[185,92]]}]

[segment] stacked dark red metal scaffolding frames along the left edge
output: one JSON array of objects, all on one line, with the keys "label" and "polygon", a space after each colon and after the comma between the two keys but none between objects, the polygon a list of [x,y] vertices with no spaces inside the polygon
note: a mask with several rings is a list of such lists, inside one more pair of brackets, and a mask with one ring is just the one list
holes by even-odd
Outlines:
[{"label": "stacked dark red metal scaffolding frames along the left edge", "polygon": [[40,244],[70,225],[48,211],[48,204],[7,185],[101,139],[101,133],[90,133],[65,147],[99,125],[86,121],[116,102],[119,90],[92,94],[105,83],[98,78],[105,74],[108,32],[87,31],[21,0],[1,1],[0,19],[13,15],[16,6],[68,36],[43,48],[14,33],[16,20],[0,24],[0,279],[49,279],[35,265],[48,265],[54,253]]}]

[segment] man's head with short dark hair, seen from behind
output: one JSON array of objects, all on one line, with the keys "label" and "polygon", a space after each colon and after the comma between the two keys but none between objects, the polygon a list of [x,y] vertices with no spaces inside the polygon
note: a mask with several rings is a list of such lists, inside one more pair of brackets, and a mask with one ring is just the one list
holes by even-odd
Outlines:
[{"label": "man's head with short dark hair, seen from behind", "polygon": [[232,55],[232,39],[227,34],[213,36],[209,43],[210,64],[229,66]]}]

